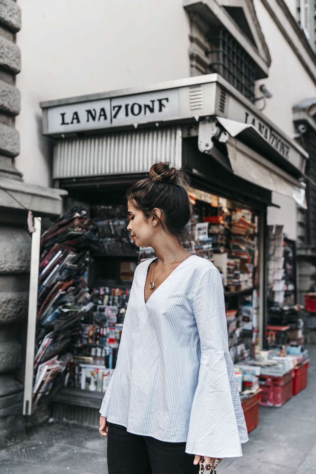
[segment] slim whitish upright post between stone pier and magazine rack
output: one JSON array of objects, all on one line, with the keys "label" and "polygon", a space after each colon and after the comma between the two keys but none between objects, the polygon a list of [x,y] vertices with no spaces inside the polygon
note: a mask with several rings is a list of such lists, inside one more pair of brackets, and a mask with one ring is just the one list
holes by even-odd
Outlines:
[{"label": "slim whitish upright post between stone pier and magazine rack", "polygon": [[41,218],[34,218],[34,232],[32,233],[30,290],[28,300],[27,319],[27,354],[25,362],[23,415],[32,413],[33,370],[35,351],[35,331],[37,315],[37,289],[39,251],[41,245]]}]

